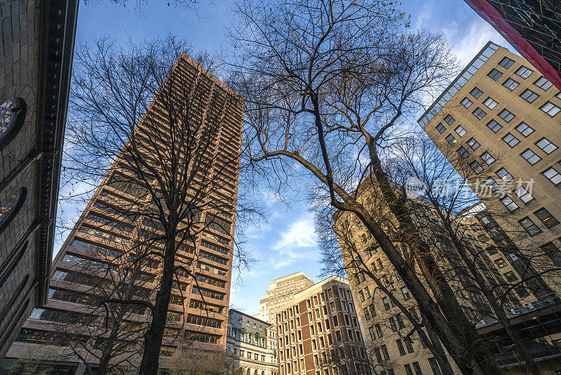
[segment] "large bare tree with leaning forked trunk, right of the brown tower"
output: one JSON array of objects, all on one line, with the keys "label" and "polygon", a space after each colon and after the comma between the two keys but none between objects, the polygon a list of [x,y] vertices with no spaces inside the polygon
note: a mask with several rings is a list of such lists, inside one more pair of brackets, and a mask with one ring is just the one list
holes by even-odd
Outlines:
[{"label": "large bare tree with leaning forked trunk, right of the brown tower", "polygon": [[[249,157],[269,166],[271,176],[294,173],[294,163],[304,167],[332,206],[354,213],[372,233],[461,371],[489,374],[497,371],[492,355],[386,173],[384,159],[405,117],[447,84],[454,67],[442,37],[403,32],[395,6],[239,3],[239,26],[230,33],[239,58],[231,65],[243,77],[236,89],[247,100]],[[365,176],[414,246],[399,249],[358,202],[356,187]]]}]

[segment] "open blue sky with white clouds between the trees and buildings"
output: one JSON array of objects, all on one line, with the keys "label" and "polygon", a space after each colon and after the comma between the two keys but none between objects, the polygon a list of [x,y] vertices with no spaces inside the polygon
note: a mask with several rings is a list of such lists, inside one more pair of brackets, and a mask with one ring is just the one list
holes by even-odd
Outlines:
[{"label": "open blue sky with white clouds between the trees and buildings", "polygon": [[[201,0],[196,14],[191,10],[167,6],[166,1],[150,1],[140,15],[122,5],[105,3],[80,4],[77,46],[104,36],[123,42],[127,38],[139,42],[171,32],[191,41],[196,51],[212,53],[219,48],[228,48],[223,44],[223,34],[224,27],[234,20],[230,1],[217,0],[213,4]],[[411,15],[413,28],[423,27],[446,34],[463,65],[489,40],[513,50],[462,0],[405,0],[401,9]],[[269,282],[292,272],[302,271],[319,281],[320,256],[313,215],[307,210],[304,193],[295,192],[292,204],[287,206],[278,202],[271,192],[261,192],[260,199],[269,209],[269,220],[261,223],[259,228],[246,230],[248,249],[257,261],[248,272],[233,277],[240,279],[231,287],[231,305],[235,308],[245,313],[257,313],[259,299],[264,297]],[[62,203],[60,210],[65,210],[66,216],[77,217],[81,207]],[[55,252],[64,239],[64,236],[58,239]]]}]

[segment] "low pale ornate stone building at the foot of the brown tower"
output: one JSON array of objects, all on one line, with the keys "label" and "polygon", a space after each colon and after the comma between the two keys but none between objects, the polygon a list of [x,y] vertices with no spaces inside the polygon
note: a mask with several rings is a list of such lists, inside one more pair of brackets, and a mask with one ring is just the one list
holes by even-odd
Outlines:
[{"label": "low pale ornate stone building at the foot of the brown tower", "polygon": [[276,329],[272,324],[230,309],[227,361],[244,375],[278,375]]}]

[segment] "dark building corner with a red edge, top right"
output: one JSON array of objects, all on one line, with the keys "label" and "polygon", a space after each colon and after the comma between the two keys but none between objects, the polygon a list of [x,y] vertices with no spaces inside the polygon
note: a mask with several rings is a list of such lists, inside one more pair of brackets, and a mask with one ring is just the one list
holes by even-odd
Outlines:
[{"label": "dark building corner with a red edge, top right", "polygon": [[561,6],[555,0],[464,0],[561,90]]}]

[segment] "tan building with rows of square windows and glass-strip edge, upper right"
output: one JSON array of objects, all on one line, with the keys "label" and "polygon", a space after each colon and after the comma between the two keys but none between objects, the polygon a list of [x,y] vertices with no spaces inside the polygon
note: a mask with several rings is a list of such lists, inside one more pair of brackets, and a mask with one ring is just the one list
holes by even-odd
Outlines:
[{"label": "tan building with rows of square windows and glass-strip edge, upper right", "polygon": [[[457,152],[469,161],[467,183],[487,198],[501,228],[524,234],[514,236],[517,246],[541,250],[543,261],[557,266],[560,112],[561,93],[550,81],[525,59],[489,42],[419,119],[448,157]],[[458,171],[466,178],[468,169]],[[489,193],[497,199],[488,199]]]}]

